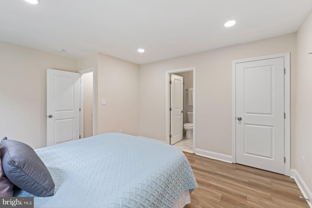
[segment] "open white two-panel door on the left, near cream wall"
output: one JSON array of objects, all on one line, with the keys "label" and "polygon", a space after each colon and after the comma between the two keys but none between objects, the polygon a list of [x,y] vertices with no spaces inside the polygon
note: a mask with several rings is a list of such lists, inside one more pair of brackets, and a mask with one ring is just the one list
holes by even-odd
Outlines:
[{"label": "open white two-panel door on the left, near cream wall", "polygon": [[79,139],[79,77],[47,69],[47,146]]}]

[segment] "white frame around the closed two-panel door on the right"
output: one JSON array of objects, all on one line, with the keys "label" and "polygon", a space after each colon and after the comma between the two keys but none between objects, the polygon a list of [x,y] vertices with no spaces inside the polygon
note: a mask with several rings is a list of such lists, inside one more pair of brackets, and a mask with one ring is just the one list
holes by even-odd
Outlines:
[{"label": "white frame around the closed two-panel door on the right", "polygon": [[274,54],[263,57],[253,57],[246,59],[239,59],[232,61],[232,162],[236,163],[236,64],[257,61],[271,58],[284,58],[285,76],[284,76],[284,112],[286,117],[284,119],[284,156],[285,166],[284,175],[290,176],[291,164],[291,109],[290,109],[290,53]]}]

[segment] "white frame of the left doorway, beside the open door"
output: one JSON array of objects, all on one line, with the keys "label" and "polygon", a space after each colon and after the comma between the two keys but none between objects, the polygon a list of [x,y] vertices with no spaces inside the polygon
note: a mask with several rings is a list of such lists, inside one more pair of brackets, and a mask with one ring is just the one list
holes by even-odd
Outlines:
[{"label": "white frame of the left doorway, beside the open door", "polygon": [[88,68],[88,69],[84,69],[84,70],[81,70],[81,71],[78,71],[78,73],[80,74],[80,135],[81,135],[81,139],[84,138],[83,136],[83,132],[84,132],[84,125],[83,125],[83,121],[84,121],[84,117],[83,117],[83,98],[84,98],[84,81],[81,80],[81,76],[83,74],[87,74],[87,73],[90,73],[90,72],[93,72],[93,106],[92,106],[92,113],[93,113],[93,120],[92,120],[92,135],[97,135],[97,126],[98,126],[98,113],[97,113],[97,109],[96,109],[96,86],[97,86],[97,83],[96,83],[96,70],[94,67],[92,68]]}]

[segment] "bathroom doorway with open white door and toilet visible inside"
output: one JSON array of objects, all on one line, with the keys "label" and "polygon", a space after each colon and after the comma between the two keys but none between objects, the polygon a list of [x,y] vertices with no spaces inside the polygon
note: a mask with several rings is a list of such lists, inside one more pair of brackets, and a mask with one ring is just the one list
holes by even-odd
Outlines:
[{"label": "bathroom doorway with open white door and toilet visible inside", "polygon": [[195,149],[195,67],[166,71],[166,143]]}]

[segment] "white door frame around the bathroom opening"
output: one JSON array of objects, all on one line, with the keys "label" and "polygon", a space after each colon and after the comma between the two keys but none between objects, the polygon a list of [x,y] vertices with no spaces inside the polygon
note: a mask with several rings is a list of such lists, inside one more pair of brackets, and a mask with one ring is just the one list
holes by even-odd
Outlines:
[{"label": "white door frame around the bathroom opening", "polygon": [[193,152],[195,152],[196,144],[196,67],[182,68],[166,71],[166,143],[170,144],[169,129],[170,129],[170,74],[193,71]]}]

